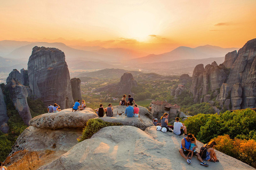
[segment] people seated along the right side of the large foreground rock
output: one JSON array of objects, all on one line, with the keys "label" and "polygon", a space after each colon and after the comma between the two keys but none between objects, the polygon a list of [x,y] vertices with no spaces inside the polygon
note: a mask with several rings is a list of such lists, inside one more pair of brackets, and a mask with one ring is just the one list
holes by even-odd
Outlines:
[{"label": "people seated along the right side of the large foreground rock", "polygon": [[159,130],[158,128],[161,128],[161,130],[165,128],[166,131],[173,132],[176,135],[185,135],[186,138],[183,138],[181,140],[181,148],[179,149],[179,152],[180,155],[187,160],[188,164],[191,163],[191,158],[193,156],[196,156],[197,159],[200,161],[200,164],[203,166],[209,166],[208,164],[205,163],[204,160],[209,160],[210,162],[214,163],[219,162],[219,160],[217,159],[216,152],[214,151],[214,146],[217,145],[217,143],[213,140],[210,143],[204,145],[203,149],[205,149],[205,152],[202,151],[201,148],[202,153],[200,152],[199,154],[196,151],[196,148],[198,148],[196,144],[196,138],[194,137],[193,134],[187,134],[187,128],[185,124],[179,122],[179,120],[179,117],[176,117],[173,126],[168,125],[168,114],[164,113],[164,115],[161,117],[161,127],[157,126],[157,118],[154,119],[153,123],[157,126],[157,130]]}]

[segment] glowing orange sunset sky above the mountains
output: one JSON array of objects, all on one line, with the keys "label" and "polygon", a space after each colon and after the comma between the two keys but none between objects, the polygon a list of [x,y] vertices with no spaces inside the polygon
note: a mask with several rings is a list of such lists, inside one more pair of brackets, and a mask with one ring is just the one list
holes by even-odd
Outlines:
[{"label": "glowing orange sunset sky above the mountains", "polygon": [[59,41],[164,53],[241,48],[256,38],[255,0],[0,0],[0,40]]}]

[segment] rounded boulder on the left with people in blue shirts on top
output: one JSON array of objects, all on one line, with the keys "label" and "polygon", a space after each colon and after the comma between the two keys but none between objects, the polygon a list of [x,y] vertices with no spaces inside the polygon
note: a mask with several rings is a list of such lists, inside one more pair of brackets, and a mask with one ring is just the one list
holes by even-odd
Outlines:
[{"label": "rounded boulder on the left with people in blue shirts on top", "polygon": [[29,121],[29,125],[40,129],[84,128],[86,122],[95,117],[98,115],[91,108],[76,112],[68,108],[36,116]]}]

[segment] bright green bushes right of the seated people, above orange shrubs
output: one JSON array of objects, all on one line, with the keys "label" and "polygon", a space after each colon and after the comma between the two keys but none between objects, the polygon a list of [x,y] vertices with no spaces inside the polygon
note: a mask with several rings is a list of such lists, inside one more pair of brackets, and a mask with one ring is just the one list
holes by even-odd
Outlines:
[{"label": "bright green bushes right of the seated people, above orange shrubs", "polygon": [[204,143],[228,134],[231,139],[256,140],[256,113],[251,109],[218,114],[198,114],[185,122],[188,132]]}]

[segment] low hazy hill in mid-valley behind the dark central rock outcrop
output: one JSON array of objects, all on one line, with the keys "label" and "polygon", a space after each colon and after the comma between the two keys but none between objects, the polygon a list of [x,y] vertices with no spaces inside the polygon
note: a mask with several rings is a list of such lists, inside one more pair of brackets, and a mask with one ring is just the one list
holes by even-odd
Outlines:
[{"label": "low hazy hill in mid-valley behind the dark central rock outcrop", "polygon": [[95,72],[85,72],[79,74],[78,78],[83,77],[91,77],[91,78],[99,78],[99,79],[120,79],[122,75],[126,72],[132,73],[133,77],[137,77],[138,75],[142,75],[142,72],[139,71],[127,71],[123,69],[103,69]]}]

